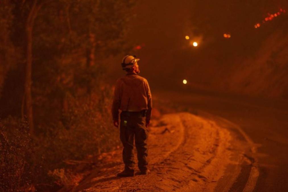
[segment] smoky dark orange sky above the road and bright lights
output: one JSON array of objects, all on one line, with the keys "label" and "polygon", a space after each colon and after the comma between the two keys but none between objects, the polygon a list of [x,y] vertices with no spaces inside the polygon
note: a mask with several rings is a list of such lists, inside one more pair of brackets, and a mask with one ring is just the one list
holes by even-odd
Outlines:
[{"label": "smoky dark orange sky above the road and bright lights", "polygon": [[[161,83],[193,76],[197,71],[190,71],[191,66],[231,65],[253,55],[278,24],[258,31],[253,26],[281,7],[287,8],[287,1],[141,0],[129,38],[141,49],[132,53],[141,59],[141,74]],[[223,33],[231,38],[224,39]],[[199,46],[192,47],[185,35]]]}]

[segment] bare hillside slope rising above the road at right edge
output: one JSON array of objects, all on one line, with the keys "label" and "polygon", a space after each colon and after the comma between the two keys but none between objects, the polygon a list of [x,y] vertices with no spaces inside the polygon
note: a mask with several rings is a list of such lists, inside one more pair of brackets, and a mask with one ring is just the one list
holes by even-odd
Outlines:
[{"label": "bare hillside slope rising above the road at right edge", "polygon": [[234,67],[228,89],[248,95],[288,99],[288,34],[275,31],[254,57]]}]

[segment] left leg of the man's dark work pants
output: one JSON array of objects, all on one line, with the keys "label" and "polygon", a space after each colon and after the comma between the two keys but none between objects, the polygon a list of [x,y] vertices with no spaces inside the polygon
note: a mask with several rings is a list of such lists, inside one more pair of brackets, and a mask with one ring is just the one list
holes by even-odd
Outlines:
[{"label": "left leg of the man's dark work pants", "polygon": [[123,144],[122,157],[125,170],[134,170],[134,128],[129,117],[122,117],[120,122],[120,140]]}]

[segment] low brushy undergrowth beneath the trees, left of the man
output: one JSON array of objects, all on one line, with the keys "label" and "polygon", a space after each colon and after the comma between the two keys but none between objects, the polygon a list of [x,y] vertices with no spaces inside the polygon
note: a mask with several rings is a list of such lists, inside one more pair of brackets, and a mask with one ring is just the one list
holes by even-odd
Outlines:
[{"label": "low brushy undergrowth beneath the trees, left of the man", "polygon": [[5,119],[0,130],[3,191],[19,191],[32,185],[37,190],[51,190],[53,180],[58,185],[75,184],[71,182],[77,176],[65,161],[99,155],[120,144],[118,130],[109,121],[111,97],[110,86],[102,86],[101,93],[90,96],[69,96],[71,107],[63,112],[62,121],[46,125],[46,131],[33,140],[26,122]]}]

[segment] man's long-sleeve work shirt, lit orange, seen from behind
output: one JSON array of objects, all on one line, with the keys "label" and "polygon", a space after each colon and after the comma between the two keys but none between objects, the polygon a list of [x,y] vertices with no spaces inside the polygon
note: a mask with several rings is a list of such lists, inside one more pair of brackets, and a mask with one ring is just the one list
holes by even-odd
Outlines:
[{"label": "man's long-sleeve work shirt, lit orange, seen from behind", "polygon": [[150,121],[152,97],[145,78],[131,73],[117,80],[112,104],[113,120],[118,120],[119,109],[122,111],[147,110],[146,121]]}]

